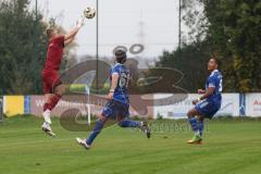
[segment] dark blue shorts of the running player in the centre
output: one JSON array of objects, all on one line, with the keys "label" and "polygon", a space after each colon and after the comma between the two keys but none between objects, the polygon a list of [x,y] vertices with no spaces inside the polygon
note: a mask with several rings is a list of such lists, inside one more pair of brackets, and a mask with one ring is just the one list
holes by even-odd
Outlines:
[{"label": "dark blue shorts of the running player in the centre", "polygon": [[128,104],[121,103],[115,100],[110,100],[105,104],[105,107],[102,110],[102,115],[108,119],[116,119],[116,117],[128,117]]}]

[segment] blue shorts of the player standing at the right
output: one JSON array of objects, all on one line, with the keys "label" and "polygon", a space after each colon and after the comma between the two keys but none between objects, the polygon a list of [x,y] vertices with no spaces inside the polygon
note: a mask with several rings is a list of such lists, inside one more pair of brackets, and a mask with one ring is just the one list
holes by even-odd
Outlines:
[{"label": "blue shorts of the player standing at the right", "polygon": [[220,110],[220,103],[212,103],[203,100],[196,104],[195,109],[202,114],[202,116],[212,119],[214,114]]}]

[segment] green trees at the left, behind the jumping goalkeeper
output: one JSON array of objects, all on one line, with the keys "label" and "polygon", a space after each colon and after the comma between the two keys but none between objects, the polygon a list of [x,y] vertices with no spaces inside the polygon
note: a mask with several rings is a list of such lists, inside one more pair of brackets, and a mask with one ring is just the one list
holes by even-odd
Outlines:
[{"label": "green trees at the left, behind the jumping goalkeeper", "polygon": [[[37,94],[42,91],[48,23],[38,14],[38,54],[35,60],[35,12],[28,7],[29,0],[0,0],[0,95],[34,94],[35,74]],[[66,50],[65,57],[73,58],[70,50],[74,47],[72,45]]]}]

